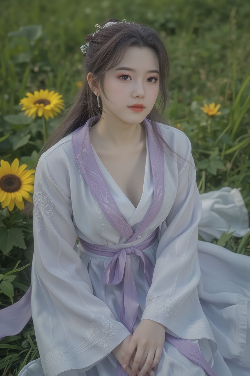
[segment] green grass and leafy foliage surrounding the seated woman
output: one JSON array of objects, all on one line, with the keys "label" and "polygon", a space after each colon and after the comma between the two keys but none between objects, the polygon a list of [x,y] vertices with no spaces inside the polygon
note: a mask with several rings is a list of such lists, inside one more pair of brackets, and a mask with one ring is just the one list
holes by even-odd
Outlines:
[{"label": "green grass and leafy foliage surrounding the seated woman", "polygon": [[[9,136],[0,142],[0,159],[11,164],[18,158],[19,164],[32,168],[43,144],[42,121],[21,113],[19,100],[27,91],[48,88],[62,94],[69,105],[76,82],[82,79],[80,46],[86,35],[96,30],[94,25],[107,18],[147,24],[160,33],[171,62],[165,117],[172,126],[180,123],[190,138],[200,193],[223,186],[241,188],[250,212],[247,0],[2,0],[0,132]],[[200,109],[212,102],[221,104],[222,114],[210,117]],[[49,121],[49,133],[59,120],[60,116]],[[18,301],[30,286],[34,243],[32,224],[18,209],[11,213],[7,208],[0,210],[0,221],[0,275],[10,272],[4,287],[0,285],[0,308],[4,308]],[[9,246],[1,236],[4,231],[12,234]],[[250,255],[249,239],[250,233],[243,238],[224,233],[213,243],[229,252]],[[20,334],[0,341],[3,376],[16,376],[36,358],[39,352],[32,319]]]}]

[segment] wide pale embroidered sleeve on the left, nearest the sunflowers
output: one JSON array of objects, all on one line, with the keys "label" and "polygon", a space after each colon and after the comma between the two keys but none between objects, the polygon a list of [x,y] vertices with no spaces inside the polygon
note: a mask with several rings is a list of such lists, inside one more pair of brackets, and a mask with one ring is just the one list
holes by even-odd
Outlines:
[{"label": "wide pale embroidered sleeve on the left, nearest the sunflowers", "polygon": [[[75,369],[85,374],[130,332],[91,291],[88,270],[76,244],[70,189],[60,185],[60,173],[53,171],[55,166],[48,165],[42,155],[36,168],[33,196],[34,330],[47,376]],[[65,174],[62,170],[64,183]]]}]

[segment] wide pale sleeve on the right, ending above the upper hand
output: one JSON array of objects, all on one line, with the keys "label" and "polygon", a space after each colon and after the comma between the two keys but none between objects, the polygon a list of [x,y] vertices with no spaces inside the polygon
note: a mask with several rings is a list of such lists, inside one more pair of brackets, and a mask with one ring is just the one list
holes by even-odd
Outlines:
[{"label": "wide pale sleeve on the right, ending above the upper hand", "polygon": [[198,224],[202,205],[191,143],[186,135],[183,137],[182,150],[186,161],[176,174],[174,203],[160,228],[153,280],[141,319],[163,324],[166,332],[176,337],[214,341],[197,290],[201,278]]}]

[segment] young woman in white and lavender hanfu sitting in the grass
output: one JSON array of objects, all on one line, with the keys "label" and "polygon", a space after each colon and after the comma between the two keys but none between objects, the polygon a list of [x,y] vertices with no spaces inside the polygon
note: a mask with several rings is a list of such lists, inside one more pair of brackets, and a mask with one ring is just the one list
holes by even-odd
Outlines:
[{"label": "young woman in white and lavender hanfu sitting in the grass", "polygon": [[36,167],[32,290],[0,332],[21,331],[31,299],[40,358],[19,376],[250,375],[250,258],[208,242],[228,223],[243,236],[248,213],[229,187],[202,213],[189,138],[155,106],[160,36],[111,19],[82,51],[83,88]]}]

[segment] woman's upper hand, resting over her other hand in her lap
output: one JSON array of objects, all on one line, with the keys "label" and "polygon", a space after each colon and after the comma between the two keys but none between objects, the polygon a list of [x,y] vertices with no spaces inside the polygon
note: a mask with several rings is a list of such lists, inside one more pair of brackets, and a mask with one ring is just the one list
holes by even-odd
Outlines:
[{"label": "woman's upper hand, resting over her other hand in her lap", "polygon": [[[130,343],[126,349],[123,362],[126,367],[123,369],[127,371],[127,366],[130,364],[130,358],[136,347],[137,350],[131,367],[132,376],[133,374],[145,376],[153,367],[156,367],[162,355],[166,334],[165,329],[164,325],[144,318],[136,327],[132,337],[129,336]],[[139,373],[138,367],[141,368]]]}]

